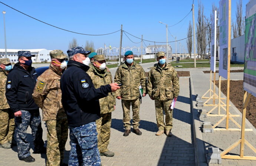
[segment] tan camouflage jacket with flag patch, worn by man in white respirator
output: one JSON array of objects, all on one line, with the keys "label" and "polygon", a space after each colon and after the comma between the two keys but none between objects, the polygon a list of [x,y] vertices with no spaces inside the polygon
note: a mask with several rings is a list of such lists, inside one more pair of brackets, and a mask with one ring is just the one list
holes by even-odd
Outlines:
[{"label": "tan camouflage jacket with flag patch, worn by man in white respirator", "polygon": [[49,69],[37,78],[33,98],[43,110],[43,121],[67,118],[61,103],[61,75],[59,68],[50,64]]}]

